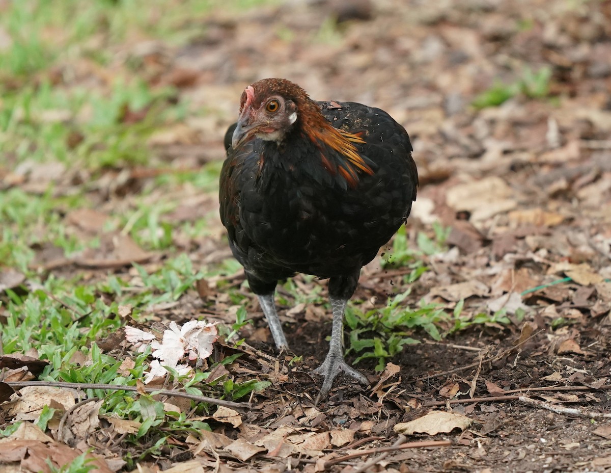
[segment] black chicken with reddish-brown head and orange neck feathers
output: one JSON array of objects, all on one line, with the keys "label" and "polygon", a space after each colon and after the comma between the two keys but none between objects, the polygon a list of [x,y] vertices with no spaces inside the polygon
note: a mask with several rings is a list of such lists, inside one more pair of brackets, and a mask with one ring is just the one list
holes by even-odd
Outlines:
[{"label": "black chicken with reddish-brown head and orange neck feathers", "polygon": [[416,198],[408,133],[389,114],[354,102],[315,102],[285,79],[248,86],[225,135],[221,220],[280,351],[278,280],[329,278],[333,327],[315,373],[318,399],[340,371],[368,383],[343,356],[343,316],[360,268],[397,231]]}]

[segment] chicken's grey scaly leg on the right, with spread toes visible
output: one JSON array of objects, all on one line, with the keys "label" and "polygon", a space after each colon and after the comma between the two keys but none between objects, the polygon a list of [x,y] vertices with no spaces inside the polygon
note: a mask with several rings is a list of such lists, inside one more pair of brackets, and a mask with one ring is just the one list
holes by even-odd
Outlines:
[{"label": "chicken's grey scaly leg on the right, with spread toes visible", "polygon": [[346,363],[343,356],[343,316],[346,309],[347,299],[337,299],[329,297],[331,300],[331,308],[333,310],[333,328],[331,330],[331,342],[329,343],[329,352],[327,353],[324,362],[320,367],[314,370],[314,373],[324,376],[323,387],[316,397],[315,404],[318,404],[322,398],[326,397],[331,389],[333,380],[342,371],[349,374],[362,384],[369,384],[369,380],[362,373],[355,370]]}]

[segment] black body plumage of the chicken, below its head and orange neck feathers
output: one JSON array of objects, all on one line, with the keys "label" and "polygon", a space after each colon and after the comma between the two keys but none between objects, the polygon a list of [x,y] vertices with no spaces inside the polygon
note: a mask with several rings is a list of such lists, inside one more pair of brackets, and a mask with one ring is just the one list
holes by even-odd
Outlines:
[{"label": "black body plumage of the chicken, below its head and orange neck feathers", "polygon": [[[296,272],[331,277],[332,296],[349,298],[360,268],[406,220],[418,176],[408,133],[386,112],[354,102],[317,102],[333,127],[373,171],[357,169],[351,185],[338,166],[346,157],[313,142],[301,122],[281,143],[254,139],[232,149],[221,171],[221,220],[255,294]],[[324,158],[323,158],[324,155]],[[335,281],[335,282],[334,282]]]}]

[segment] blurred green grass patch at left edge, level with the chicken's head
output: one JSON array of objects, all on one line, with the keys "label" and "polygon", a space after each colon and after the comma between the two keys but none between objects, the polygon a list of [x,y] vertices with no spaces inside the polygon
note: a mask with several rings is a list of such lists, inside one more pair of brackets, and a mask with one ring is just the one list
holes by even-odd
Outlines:
[{"label": "blurred green grass patch at left edge, level with the chicken's head", "polygon": [[[1,90],[0,90],[1,92]],[[54,87],[49,81],[4,91],[0,133],[13,165],[52,160],[88,169],[147,163],[148,136],[185,117],[172,89],[115,80],[108,91]],[[141,114],[126,123],[126,113]]]}]

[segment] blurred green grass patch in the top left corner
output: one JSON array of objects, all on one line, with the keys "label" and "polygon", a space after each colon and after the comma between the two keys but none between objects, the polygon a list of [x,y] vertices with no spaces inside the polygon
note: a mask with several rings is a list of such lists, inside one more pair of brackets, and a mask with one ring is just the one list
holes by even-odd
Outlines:
[{"label": "blurred green grass patch in the top left corner", "polygon": [[[233,9],[262,3],[240,0],[233,2]],[[218,0],[7,2],[0,24],[12,42],[0,53],[0,64],[4,72],[25,77],[82,56],[108,65],[114,47],[134,40],[180,46],[205,32],[205,22],[197,18],[220,5]]]}]

